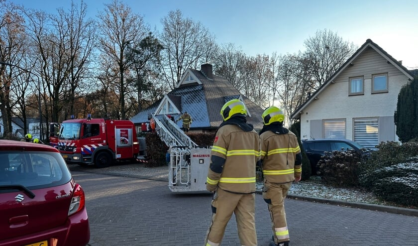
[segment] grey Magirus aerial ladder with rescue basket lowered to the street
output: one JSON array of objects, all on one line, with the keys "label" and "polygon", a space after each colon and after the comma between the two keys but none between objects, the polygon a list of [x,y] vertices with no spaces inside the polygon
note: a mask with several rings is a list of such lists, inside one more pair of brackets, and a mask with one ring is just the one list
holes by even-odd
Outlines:
[{"label": "grey Magirus aerial ladder with rescue basket lowered to the street", "polygon": [[155,131],[169,147],[168,187],[172,192],[204,192],[211,146],[198,146],[166,115],[152,115]]}]

